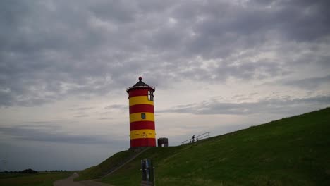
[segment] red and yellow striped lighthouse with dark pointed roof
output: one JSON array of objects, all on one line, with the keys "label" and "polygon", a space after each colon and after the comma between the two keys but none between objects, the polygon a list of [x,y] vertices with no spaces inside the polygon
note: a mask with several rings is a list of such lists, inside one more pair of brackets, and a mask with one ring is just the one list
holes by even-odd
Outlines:
[{"label": "red and yellow striped lighthouse with dark pointed roof", "polygon": [[130,103],[130,148],[156,146],[154,90],[142,82],[142,77],[126,89]]}]

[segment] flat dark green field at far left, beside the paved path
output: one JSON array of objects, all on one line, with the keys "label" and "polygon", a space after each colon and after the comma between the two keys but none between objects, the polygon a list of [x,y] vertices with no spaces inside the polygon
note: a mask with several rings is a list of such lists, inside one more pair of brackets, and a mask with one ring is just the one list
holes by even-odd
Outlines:
[{"label": "flat dark green field at far left, beside the paved path", "polygon": [[68,178],[73,172],[61,173],[1,173],[0,185],[6,186],[52,186],[56,180]]}]

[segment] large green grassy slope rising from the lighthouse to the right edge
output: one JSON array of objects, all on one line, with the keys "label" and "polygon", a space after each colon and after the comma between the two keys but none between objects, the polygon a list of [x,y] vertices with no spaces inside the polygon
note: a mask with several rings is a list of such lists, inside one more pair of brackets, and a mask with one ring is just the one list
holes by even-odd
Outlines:
[{"label": "large green grassy slope rising from the lighthouse to the right edge", "polygon": [[330,185],[330,108],[194,144],[154,147],[102,182],[139,185],[145,158],[154,159],[157,186]]}]

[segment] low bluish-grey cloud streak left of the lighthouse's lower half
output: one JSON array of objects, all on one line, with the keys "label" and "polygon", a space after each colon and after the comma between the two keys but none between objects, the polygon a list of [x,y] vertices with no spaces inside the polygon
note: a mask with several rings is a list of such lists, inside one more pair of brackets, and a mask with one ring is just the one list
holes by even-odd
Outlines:
[{"label": "low bluish-grey cloud streak left of the lighthouse's lower half", "polygon": [[[51,130],[51,131],[50,131]],[[2,135],[13,137],[18,140],[37,141],[37,142],[57,142],[71,144],[116,144],[102,135],[73,135],[54,130],[54,128],[35,128],[30,126],[11,126],[0,127]]]}]

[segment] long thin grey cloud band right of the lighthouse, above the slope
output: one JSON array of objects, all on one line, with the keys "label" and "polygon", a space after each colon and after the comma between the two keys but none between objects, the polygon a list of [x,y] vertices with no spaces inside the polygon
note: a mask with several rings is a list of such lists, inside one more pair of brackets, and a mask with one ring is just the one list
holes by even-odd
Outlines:
[{"label": "long thin grey cloud band right of the lighthouse, above the slope", "polygon": [[[291,113],[304,107],[318,105],[318,109],[330,106],[330,97],[307,97],[302,99],[271,98],[257,102],[228,103],[221,101],[203,101],[202,103],[176,106],[173,109],[157,111],[159,113],[193,114],[253,114],[253,113]],[[305,108],[304,108],[305,109]]]}]

